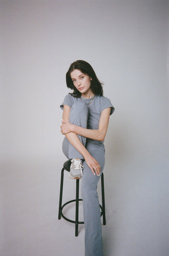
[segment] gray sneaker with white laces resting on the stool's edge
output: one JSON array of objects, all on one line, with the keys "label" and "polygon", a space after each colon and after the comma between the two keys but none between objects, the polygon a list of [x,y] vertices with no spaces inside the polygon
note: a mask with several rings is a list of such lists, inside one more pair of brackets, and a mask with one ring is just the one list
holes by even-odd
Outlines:
[{"label": "gray sneaker with white laces resting on the stool's edge", "polygon": [[70,172],[69,172],[69,177],[71,179],[81,179],[83,172],[83,165],[82,165],[82,160],[81,159],[76,159],[73,158],[71,160],[71,165],[70,165]]}]

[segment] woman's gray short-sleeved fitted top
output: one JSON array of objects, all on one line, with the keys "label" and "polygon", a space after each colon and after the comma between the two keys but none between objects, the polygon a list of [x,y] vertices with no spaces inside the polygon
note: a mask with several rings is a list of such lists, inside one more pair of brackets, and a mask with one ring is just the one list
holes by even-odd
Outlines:
[{"label": "woman's gray short-sleeved fitted top", "polygon": [[[74,102],[81,101],[81,100],[85,101],[88,104],[92,100],[92,98],[85,99],[81,96],[81,99],[80,99],[80,98],[73,97],[71,94],[67,94],[63,100],[63,103],[60,105],[60,108],[63,110],[63,105],[68,105],[71,108]],[[88,126],[87,126],[88,129],[99,128],[100,115],[104,109],[111,108],[110,115],[115,110],[114,106],[111,104],[108,98],[106,98],[105,96],[99,96],[99,95],[95,95],[95,98],[89,105],[87,105],[87,107],[89,110]],[[88,139],[88,140],[91,140],[91,139]],[[103,142],[100,142],[100,143],[103,143]]]}]

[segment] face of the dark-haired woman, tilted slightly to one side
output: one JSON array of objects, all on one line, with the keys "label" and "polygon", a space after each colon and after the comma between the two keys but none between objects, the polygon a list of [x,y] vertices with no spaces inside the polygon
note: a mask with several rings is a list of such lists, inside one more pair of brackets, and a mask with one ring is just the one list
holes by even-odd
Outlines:
[{"label": "face of the dark-haired woman, tilted slightly to one side", "polygon": [[70,73],[73,85],[81,94],[86,94],[90,92],[90,85],[92,78],[89,77],[87,74],[83,74],[79,69],[74,69]]}]

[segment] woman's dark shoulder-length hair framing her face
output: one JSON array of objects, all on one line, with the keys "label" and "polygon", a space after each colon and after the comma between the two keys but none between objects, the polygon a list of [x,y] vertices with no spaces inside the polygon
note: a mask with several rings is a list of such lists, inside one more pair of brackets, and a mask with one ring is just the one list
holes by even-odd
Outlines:
[{"label": "woman's dark shoulder-length hair framing her face", "polygon": [[89,63],[87,63],[85,60],[76,60],[70,65],[70,68],[66,74],[67,87],[73,90],[73,92],[70,93],[72,96],[74,96],[76,98],[79,98],[81,96],[81,93],[74,86],[73,81],[70,76],[70,73],[74,69],[79,69],[83,74],[87,74],[89,77],[91,77],[92,78],[91,86],[90,86],[91,91],[95,95],[100,95],[100,96],[103,95],[102,84],[104,84],[104,83],[101,83],[98,80],[92,66]]}]

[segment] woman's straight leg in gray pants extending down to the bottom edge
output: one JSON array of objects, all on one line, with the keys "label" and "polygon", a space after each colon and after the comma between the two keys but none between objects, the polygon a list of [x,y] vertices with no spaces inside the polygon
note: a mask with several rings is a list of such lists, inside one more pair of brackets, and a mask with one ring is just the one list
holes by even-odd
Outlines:
[{"label": "woman's straight leg in gray pants extending down to the bottom edge", "polygon": [[[105,165],[104,149],[91,149],[90,154],[96,158],[101,165],[101,173]],[[83,162],[82,178],[82,199],[83,199],[83,216],[85,222],[85,255],[102,256],[102,231],[99,199],[97,194],[97,184],[100,179],[93,175],[90,168]]]}]

